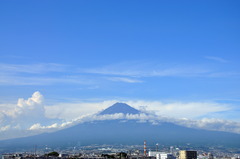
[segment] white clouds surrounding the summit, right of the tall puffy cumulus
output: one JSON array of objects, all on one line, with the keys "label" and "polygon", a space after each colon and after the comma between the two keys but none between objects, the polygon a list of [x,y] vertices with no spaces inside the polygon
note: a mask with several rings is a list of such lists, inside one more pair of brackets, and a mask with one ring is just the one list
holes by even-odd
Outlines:
[{"label": "white clouds surrounding the summit, right of the tall puffy cumulus", "polygon": [[[215,102],[170,102],[162,103],[159,101],[122,101],[135,108],[139,108],[143,113],[141,114],[112,114],[112,115],[91,115],[91,113],[103,110],[104,108],[114,104],[117,101],[104,101],[104,102],[87,102],[87,103],[74,103],[67,104],[64,103],[60,107],[55,105],[54,117],[60,117],[61,119],[72,120],[71,124],[89,122],[94,120],[111,120],[111,119],[123,119],[123,120],[138,120],[139,122],[151,122],[152,124],[158,124],[163,121],[172,122],[175,124],[201,128],[207,130],[216,130],[216,131],[227,131],[240,133],[239,122],[229,121],[229,120],[217,120],[204,118],[198,120],[199,117],[204,115],[209,115],[211,113],[217,113],[221,111],[231,110],[231,106],[227,104],[220,104]],[[68,107],[70,105],[70,107]],[[63,110],[60,113],[57,110]],[[75,109],[76,108],[76,109]],[[51,110],[51,106],[48,106],[48,109]],[[68,111],[75,110],[75,111]],[[82,113],[82,111],[84,113]],[[74,114],[69,115],[71,112]],[[65,114],[66,113],[66,114]],[[84,115],[85,114],[85,115]],[[86,115],[88,114],[88,115]],[[58,116],[59,115],[59,116]],[[78,117],[78,115],[82,115]],[[71,118],[75,117],[75,119]]]}]

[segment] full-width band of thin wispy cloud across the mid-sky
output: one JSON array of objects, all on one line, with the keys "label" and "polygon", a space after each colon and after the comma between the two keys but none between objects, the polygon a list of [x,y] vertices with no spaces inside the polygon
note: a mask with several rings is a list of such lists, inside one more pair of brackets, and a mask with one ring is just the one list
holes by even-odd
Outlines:
[{"label": "full-width band of thin wispy cloud across the mid-sky", "polygon": [[[216,57],[208,57],[218,59]],[[220,59],[218,59],[220,60]],[[222,59],[223,61],[223,59]],[[60,83],[98,85],[103,81],[142,83],[148,77],[231,77],[238,72],[222,72],[204,65],[123,62],[97,68],[78,68],[57,63],[0,63],[0,85],[52,85]]]}]

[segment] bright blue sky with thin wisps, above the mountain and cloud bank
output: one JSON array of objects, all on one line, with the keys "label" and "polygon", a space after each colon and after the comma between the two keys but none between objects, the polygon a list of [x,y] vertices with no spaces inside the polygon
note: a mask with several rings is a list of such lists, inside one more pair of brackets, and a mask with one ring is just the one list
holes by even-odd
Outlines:
[{"label": "bright blue sky with thin wisps, above the mountain and cloud bank", "polygon": [[240,121],[239,7],[237,0],[3,0],[3,113],[39,91],[49,107],[214,103],[221,109],[187,117]]}]

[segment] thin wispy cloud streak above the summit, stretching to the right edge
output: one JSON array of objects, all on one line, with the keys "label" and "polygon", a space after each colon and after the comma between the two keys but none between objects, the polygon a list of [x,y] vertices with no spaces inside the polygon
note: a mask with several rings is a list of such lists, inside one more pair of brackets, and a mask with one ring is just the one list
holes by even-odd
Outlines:
[{"label": "thin wispy cloud streak above the summit, stretching to the right edge", "polygon": [[[207,59],[215,60],[218,62],[228,62],[219,57],[205,57]],[[92,74],[95,76],[109,76],[122,77],[122,78],[134,78],[140,81],[145,81],[146,78],[161,78],[161,77],[184,77],[184,78],[231,78],[239,77],[238,70],[229,70],[227,67],[219,69],[219,67],[213,67],[202,64],[159,64],[149,62],[123,62],[105,65],[97,68],[82,68],[78,69],[79,73]],[[143,80],[144,78],[144,80]],[[119,80],[120,81],[120,80]]]}]

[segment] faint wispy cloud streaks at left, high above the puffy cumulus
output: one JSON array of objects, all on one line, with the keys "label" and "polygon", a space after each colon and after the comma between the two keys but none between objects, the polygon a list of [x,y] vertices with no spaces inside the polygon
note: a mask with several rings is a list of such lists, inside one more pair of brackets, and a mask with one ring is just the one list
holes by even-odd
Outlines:
[{"label": "faint wispy cloud streaks at left, high above the puffy cumulus", "polygon": [[0,63],[0,77],[0,85],[92,84],[92,80],[86,80],[87,77],[74,73],[72,66],[56,63],[25,65]]}]

